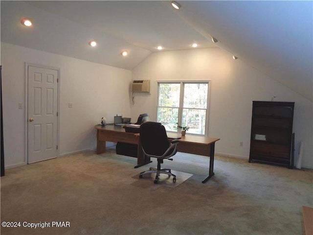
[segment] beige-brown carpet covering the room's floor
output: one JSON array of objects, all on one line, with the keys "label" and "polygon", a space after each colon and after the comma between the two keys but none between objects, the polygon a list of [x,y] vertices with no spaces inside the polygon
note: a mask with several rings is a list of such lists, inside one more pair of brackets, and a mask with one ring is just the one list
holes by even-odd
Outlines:
[{"label": "beige-brown carpet covering the room's floor", "polygon": [[[139,179],[136,159],[87,152],[6,170],[1,235],[304,235],[302,206],[313,207],[313,172],[216,156],[178,153],[162,166],[192,174],[177,187]],[[149,184],[149,187],[140,187]],[[151,185],[151,187],[150,187]],[[68,221],[70,227],[51,227]]]}]

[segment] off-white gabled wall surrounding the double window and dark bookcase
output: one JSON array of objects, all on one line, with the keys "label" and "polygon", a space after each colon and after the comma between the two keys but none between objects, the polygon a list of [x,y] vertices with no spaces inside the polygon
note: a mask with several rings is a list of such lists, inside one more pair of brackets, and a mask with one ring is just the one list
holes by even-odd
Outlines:
[{"label": "off-white gabled wall surrounding the double window and dark bookcase", "polygon": [[[156,120],[157,83],[160,80],[211,80],[209,133],[220,138],[216,152],[248,159],[252,101],[295,102],[295,163],[304,141],[302,167],[313,168],[313,103],[256,71],[220,48],[152,53],[132,73],[133,80],[151,80],[151,94],[134,94],[132,118],[148,113]],[[243,146],[240,146],[243,141]]]}]

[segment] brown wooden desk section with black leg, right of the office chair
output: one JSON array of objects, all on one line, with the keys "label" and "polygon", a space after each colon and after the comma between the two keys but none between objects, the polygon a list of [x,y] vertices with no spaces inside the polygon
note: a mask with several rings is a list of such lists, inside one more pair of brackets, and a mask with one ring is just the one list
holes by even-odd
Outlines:
[{"label": "brown wooden desk section with black leg, right of the office chair", "polygon": [[[168,137],[170,139],[171,134],[168,134]],[[205,183],[214,175],[214,149],[215,142],[219,140],[218,138],[190,135],[182,136],[181,139],[179,139],[177,151],[210,157],[209,175],[202,180],[202,183]]]}]

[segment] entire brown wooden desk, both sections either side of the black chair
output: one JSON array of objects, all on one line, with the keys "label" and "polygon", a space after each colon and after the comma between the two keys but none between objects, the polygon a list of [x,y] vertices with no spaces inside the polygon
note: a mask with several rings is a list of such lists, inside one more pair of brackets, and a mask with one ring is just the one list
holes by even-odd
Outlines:
[{"label": "entire brown wooden desk, both sections either side of the black chair", "polygon": [[[125,129],[121,126],[114,125],[94,126],[94,128],[97,129],[97,154],[106,152],[106,141],[134,143],[138,145],[137,165],[134,168],[152,163],[150,158],[143,154],[139,134],[125,132]],[[169,139],[172,139],[171,136],[173,134],[168,133]],[[177,134],[174,134],[174,136],[177,136]],[[210,157],[209,175],[202,180],[202,183],[205,183],[214,175],[214,148],[215,142],[219,140],[217,138],[190,135],[182,136],[179,139],[179,144],[177,145],[179,152]]]}]

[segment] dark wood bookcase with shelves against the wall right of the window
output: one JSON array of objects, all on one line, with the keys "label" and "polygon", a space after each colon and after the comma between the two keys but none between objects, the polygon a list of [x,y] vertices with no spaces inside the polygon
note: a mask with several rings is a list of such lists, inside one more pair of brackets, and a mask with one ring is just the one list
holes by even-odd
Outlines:
[{"label": "dark wood bookcase with shelves against the wall right of the window", "polygon": [[293,167],[294,102],[253,101],[249,163]]}]

